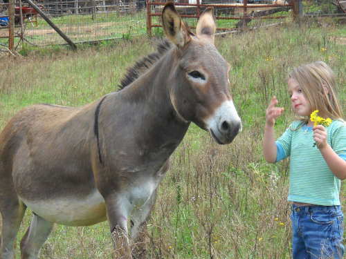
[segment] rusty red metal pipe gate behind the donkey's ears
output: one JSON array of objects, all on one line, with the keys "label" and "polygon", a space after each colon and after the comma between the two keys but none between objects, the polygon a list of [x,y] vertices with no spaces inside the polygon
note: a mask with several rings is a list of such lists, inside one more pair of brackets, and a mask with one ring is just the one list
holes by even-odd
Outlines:
[{"label": "rusty red metal pipe gate behind the donkey's ears", "polygon": [[[184,1],[184,0],[183,0]],[[248,27],[263,26],[264,23],[273,23],[273,21],[298,16],[298,0],[292,0],[290,3],[285,1],[259,1],[242,0],[242,3],[235,1],[219,1],[219,3],[208,3],[208,1],[195,0],[195,3],[177,3],[176,9],[183,19],[188,20],[191,28],[195,28],[197,20],[201,12],[212,6],[215,10],[217,19],[217,30],[230,31],[240,30]],[[147,11],[147,34],[152,35],[152,28],[161,27],[161,12],[164,3],[147,3],[149,6]],[[152,12],[150,9],[153,9]]]}]

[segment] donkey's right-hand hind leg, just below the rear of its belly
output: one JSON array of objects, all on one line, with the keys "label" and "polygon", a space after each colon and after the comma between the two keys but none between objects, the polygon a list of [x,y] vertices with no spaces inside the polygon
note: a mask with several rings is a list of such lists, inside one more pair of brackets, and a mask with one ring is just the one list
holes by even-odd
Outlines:
[{"label": "donkey's right-hand hind leg, just below the rear of its belly", "polygon": [[37,259],[39,251],[51,234],[53,227],[53,222],[33,214],[33,220],[21,239],[21,259]]}]

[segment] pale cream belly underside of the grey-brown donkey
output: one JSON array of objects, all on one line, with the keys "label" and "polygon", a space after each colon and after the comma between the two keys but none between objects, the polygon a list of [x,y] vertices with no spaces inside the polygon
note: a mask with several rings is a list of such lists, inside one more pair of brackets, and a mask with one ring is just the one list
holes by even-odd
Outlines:
[{"label": "pale cream belly underside of the grey-brown donkey", "polygon": [[21,200],[34,213],[57,224],[89,226],[107,220],[106,205],[98,191],[84,199]]}]

